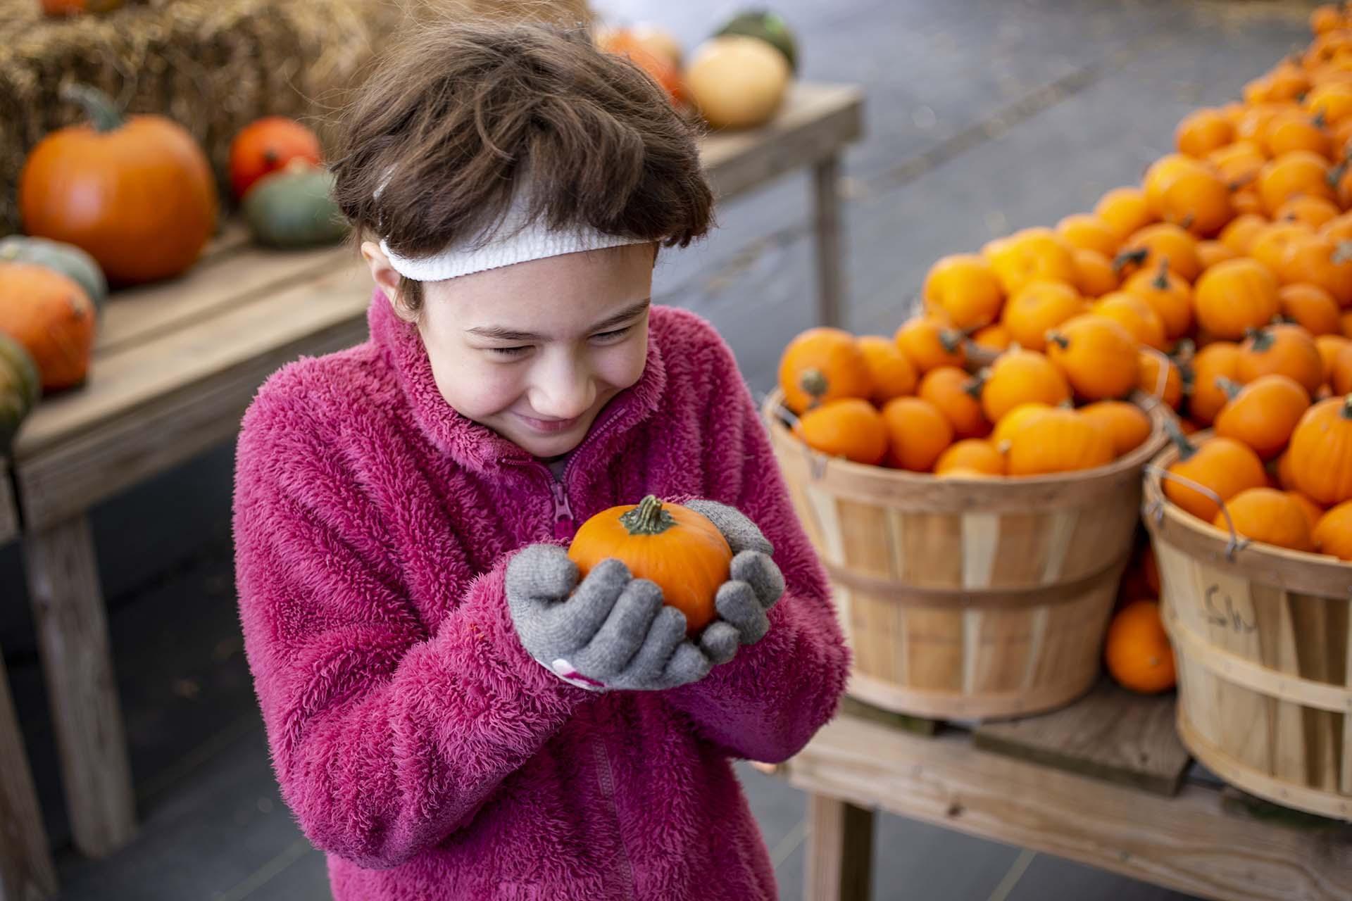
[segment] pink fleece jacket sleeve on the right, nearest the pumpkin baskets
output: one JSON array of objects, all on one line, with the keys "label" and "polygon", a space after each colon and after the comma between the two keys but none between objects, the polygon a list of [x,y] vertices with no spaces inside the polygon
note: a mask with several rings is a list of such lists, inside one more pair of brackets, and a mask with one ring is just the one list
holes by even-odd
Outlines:
[{"label": "pink fleece jacket sleeve on the right, nearest the pumpkin baskets", "polygon": [[750,392],[731,353],[715,340],[700,424],[704,497],[737,508],[760,527],[775,546],[786,589],[769,612],[765,638],[668,696],[729,754],[777,763],[836,715],[850,658],[826,574],[790,504]]}]

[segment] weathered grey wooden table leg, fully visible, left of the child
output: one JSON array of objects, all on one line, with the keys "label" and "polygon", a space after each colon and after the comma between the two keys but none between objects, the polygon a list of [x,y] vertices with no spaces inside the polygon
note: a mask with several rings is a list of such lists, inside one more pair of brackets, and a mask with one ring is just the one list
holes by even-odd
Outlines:
[{"label": "weathered grey wooden table leg, fully visible, left of the child", "polygon": [[103,856],[131,840],[137,817],[89,520],[30,532],[23,544],[70,832],[80,851]]}]

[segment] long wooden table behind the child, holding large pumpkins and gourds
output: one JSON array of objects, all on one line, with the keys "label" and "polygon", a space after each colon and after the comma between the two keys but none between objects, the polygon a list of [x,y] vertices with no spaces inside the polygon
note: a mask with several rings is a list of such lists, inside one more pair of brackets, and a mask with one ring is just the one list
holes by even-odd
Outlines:
[{"label": "long wooden table behind the child, holding large pumpkins and gourds", "polygon": [[[769,126],[702,146],[721,199],[814,170],[823,323],[841,313],[836,182],[861,111],[856,88],[798,85]],[[233,439],[254,390],[283,363],[364,340],[369,296],[350,250],[264,251],[227,230],[184,278],[114,294],[88,385],[43,400],[24,423],[11,466],[72,833],[85,854],[107,854],[135,831],[87,511]],[[14,532],[4,509],[0,540]]]}]

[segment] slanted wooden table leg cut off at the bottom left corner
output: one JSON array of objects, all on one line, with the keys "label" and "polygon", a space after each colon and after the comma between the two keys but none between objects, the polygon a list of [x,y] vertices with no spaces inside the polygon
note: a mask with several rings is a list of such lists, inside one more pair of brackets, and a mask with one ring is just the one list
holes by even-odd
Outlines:
[{"label": "slanted wooden table leg cut off at the bottom left corner", "polygon": [[57,870],[0,662],[0,901],[38,901],[55,893]]}]

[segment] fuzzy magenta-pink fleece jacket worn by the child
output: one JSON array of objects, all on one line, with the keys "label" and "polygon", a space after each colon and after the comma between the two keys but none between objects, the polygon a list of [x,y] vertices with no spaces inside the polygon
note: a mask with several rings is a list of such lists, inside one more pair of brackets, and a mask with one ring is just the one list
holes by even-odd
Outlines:
[{"label": "fuzzy magenta-pink fleece jacket worn by the child", "polygon": [[[245,416],[239,613],[287,804],[338,901],[773,898],[729,758],[830,719],[848,652],[727,346],[654,308],[648,365],[561,481],[441,397],[379,292],[369,342],[292,363]],[[534,662],[514,550],[646,493],[730,504],[788,585],[700,682],[595,694]]]}]

